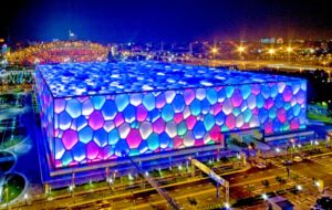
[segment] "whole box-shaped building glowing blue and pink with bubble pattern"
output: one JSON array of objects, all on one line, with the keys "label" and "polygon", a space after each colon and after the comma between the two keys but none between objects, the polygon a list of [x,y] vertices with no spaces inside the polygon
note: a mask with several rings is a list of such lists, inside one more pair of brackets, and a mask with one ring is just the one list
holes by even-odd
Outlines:
[{"label": "whole box-shaped building glowing blue and pink with bubble pattern", "polygon": [[307,123],[305,80],[227,69],[154,61],[38,65],[35,93],[51,177],[96,166],[112,171],[124,156],[226,149],[232,133],[257,129],[263,137]]}]

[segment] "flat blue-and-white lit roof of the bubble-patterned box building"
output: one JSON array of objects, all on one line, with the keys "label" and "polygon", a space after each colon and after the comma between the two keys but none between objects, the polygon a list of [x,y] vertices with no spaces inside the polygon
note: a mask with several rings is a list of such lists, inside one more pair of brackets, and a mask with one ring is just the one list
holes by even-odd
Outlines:
[{"label": "flat blue-and-white lit roof of the bubble-patterned box building", "polygon": [[156,61],[39,65],[54,97],[300,81],[280,75]]}]

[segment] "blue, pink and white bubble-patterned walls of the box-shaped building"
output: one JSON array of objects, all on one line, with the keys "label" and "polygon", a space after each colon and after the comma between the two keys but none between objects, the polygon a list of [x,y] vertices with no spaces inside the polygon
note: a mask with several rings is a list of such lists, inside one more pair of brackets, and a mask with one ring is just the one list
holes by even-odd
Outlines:
[{"label": "blue, pink and white bubble-patterned walls of the box-shaped building", "polygon": [[303,80],[216,82],[217,86],[205,80],[207,85],[200,87],[71,96],[62,95],[68,90],[54,88],[52,96],[41,72],[37,71],[41,120],[55,168],[116,159],[123,151],[137,156],[225,145],[220,133],[229,130],[261,127],[271,134],[305,127]]}]

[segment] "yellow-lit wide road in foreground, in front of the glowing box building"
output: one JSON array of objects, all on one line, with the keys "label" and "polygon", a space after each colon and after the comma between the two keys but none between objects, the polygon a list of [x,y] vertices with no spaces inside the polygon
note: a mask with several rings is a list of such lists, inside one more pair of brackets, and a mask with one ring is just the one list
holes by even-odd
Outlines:
[{"label": "yellow-lit wide road in foreground, in front of the glowing box building", "polygon": [[[251,168],[245,172],[222,176],[230,182],[231,202],[239,198],[246,198],[263,192],[276,191],[294,187],[300,183],[303,191],[299,195],[286,193],[298,208],[309,209],[320,196],[318,189],[312,183],[312,178],[324,180],[325,186],[332,186],[332,155],[312,158],[312,160],[297,162],[290,166],[291,177],[299,175],[299,179],[288,180],[281,185],[276,180],[276,176],[287,178],[286,167],[280,164],[280,159],[273,159],[276,166],[267,169]],[[262,185],[262,180],[269,180],[269,187]],[[253,188],[252,188],[253,186]],[[148,186],[146,186],[148,187]],[[165,186],[164,186],[165,187]],[[178,182],[164,188],[185,209],[208,209],[210,207],[222,206],[225,198],[216,198],[215,182],[207,177],[197,177],[191,181]],[[190,204],[190,198],[197,202]],[[167,209],[165,200],[154,189],[125,191],[122,193],[105,190],[75,197],[64,197],[62,199],[33,202],[23,206],[24,209]]]}]

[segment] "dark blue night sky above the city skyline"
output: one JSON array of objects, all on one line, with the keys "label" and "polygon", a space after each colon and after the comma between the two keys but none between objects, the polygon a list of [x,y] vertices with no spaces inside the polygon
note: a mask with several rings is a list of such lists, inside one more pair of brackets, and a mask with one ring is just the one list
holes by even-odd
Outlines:
[{"label": "dark blue night sky above the city skyline", "polygon": [[262,36],[331,38],[328,0],[10,0],[0,38],[188,42]]}]

